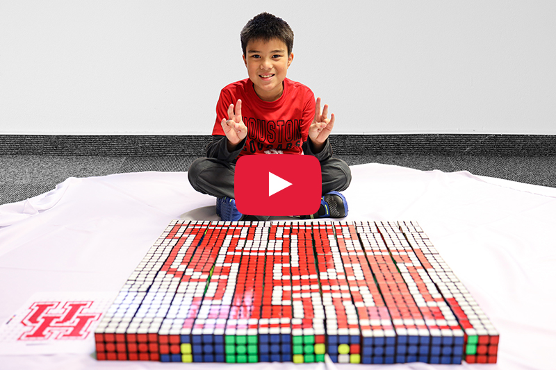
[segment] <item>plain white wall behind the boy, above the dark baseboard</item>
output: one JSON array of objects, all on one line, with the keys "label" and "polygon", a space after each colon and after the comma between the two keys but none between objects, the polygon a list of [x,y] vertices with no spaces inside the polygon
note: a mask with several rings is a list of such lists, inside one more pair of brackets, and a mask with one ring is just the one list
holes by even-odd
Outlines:
[{"label": "plain white wall behind the boy, above the dark baseboard", "polygon": [[262,11],[335,133],[556,134],[551,0],[0,0],[0,133],[208,135]]}]

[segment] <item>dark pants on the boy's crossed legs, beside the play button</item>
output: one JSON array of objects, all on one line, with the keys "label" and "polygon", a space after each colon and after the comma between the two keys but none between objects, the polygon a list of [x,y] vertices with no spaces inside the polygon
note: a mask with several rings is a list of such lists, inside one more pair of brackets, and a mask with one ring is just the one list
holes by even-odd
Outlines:
[{"label": "dark pants on the boy's crossed legs, beside the play button", "polygon": [[[343,160],[329,158],[320,162],[322,195],[346,190],[352,181],[352,172]],[[193,189],[203,194],[221,198],[234,196],[236,165],[215,158],[199,158],[189,167],[188,178]]]}]

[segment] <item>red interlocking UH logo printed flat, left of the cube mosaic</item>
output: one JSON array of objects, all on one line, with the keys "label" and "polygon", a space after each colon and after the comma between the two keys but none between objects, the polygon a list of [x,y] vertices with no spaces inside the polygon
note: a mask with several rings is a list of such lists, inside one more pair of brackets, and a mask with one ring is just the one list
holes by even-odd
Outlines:
[{"label": "red interlocking UH logo printed flat, left of the cube mosaic", "polygon": [[92,303],[65,302],[60,307],[62,302],[35,302],[22,320],[22,324],[31,329],[17,340],[85,339],[91,324],[101,317],[100,313],[83,313]]}]

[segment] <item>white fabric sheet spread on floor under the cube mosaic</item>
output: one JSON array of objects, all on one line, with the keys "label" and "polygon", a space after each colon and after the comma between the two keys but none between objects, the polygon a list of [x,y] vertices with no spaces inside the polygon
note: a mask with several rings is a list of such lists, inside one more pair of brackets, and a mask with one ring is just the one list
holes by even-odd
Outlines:
[{"label": "white fabric sheet spread on floor under the cube mosaic", "polygon": [[[359,165],[344,192],[347,220],[418,221],[500,332],[498,364],[555,369],[556,190],[468,172]],[[215,199],[186,173],[69,178],[56,190],[0,206],[0,320],[38,292],[113,292],[172,219],[217,219]],[[3,369],[170,369],[183,364],[97,362],[83,355],[10,355]],[[215,369],[218,364],[188,364]],[[230,369],[244,365],[226,365]],[[256,369],[366,365],[253,364]],[[445,369],[413,363],[396,369]]]}]

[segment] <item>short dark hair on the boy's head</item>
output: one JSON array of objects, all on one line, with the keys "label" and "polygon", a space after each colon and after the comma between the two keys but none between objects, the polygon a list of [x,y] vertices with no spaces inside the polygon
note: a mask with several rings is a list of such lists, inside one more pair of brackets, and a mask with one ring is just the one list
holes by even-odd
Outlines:
[{"label": "short dark hair on the boy's head", "polygon": [[288,47],[288,55],[293,50],[293,31],[290,26],[279,17],[268,12],[262,12],[251,19],[240,33],[241,49],[243,55],[247,53],[247,43],[250,40],[263,40],[268,42],[272,39],[284,41]]}]

